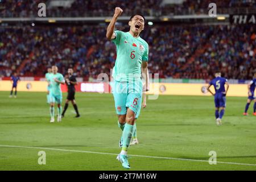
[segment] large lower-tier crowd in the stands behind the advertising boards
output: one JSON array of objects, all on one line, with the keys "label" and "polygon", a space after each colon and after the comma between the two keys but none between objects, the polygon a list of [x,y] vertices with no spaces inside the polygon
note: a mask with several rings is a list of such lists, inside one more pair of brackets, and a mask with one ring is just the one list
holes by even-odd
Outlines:
[{"label": "large lower-tier crowd in the stands behind the advertising boards", "polygon": [[[119,30],[127,31],[128,27]],[[148,26],[149,71],[161,78],[225,77],[250,79],[256,69],[256,26]],[[0,28],[0,75],[44,76],[56,64],[78,77],[97,78],[114,66],[115,46],[106,26]]]}]

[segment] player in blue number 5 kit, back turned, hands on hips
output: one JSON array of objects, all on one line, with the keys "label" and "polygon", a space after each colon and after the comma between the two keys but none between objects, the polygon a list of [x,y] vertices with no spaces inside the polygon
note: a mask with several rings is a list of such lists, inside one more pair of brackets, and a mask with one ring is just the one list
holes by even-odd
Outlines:
[{"label": "player in blue number 5 kit, back turned, hands on hips", "polygon": [[[215,94],[210,91],[210,86],[214,86]],[[227,88],[225,90],[225,85],[227,85]],[[215,117],[216,117],[216,123],[218,126],[221,125],[221,119],[225,112],[226,107],[226,93],[229,89],[229,83],[226,78],[221,77],[220,72],[215,73],[215,78],[210,81],[207,90],[214,96],[214,102],[215,102]]]}]

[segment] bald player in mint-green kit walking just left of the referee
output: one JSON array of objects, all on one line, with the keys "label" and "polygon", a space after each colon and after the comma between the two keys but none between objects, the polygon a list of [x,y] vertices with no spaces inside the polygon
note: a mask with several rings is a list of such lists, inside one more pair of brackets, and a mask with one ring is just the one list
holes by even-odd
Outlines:
[{"label": "bald player in mint-green kit walking just left of the referee", "polygon": [[65,84],[65,80],[63,75],[58,73],[58,68],[56,66],[52,66],[52,76],[50,78],[51,82],[51,92],[50,92],[50,113],[51,113],[51,123],[54,122],[54,106],[55,102],[57,102],[58,106],[58,115],[57,122],[61,121],[61,102],[62,102],[62,92],[60,88],[60,84]]}]

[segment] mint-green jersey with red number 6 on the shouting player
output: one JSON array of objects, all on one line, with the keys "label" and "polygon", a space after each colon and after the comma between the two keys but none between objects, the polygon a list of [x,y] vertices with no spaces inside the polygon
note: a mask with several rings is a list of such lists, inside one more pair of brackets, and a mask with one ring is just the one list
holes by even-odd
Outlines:
[{"label": "mint-green jersey with red number 6 on the shouting player", "polygon": [[141,79],[142,61],[148,61],[148,44],[141,37],[134,38],[130,32],[114,32],[115,39],[112,42],[117,47],[117,59],[112,74],[114,80]]}]

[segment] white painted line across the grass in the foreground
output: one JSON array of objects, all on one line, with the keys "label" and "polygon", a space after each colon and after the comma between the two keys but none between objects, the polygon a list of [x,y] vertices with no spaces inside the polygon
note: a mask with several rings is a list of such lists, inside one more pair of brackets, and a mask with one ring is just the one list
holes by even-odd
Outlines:
[{"label": "white painted line across the grass in the foreground", "polygon": [[[2,145],[2,144],[0,144],[0,147],[32,148],[32,149],[40,149],[40,150],[53,150],[53,151],[64,151],[64,152],[80,152],[80,153],[88,153],[88,154],[118,155],[118,154],[108,153],[108,152],[93,152],[93,151],[81,151],[81,150],[67,150],[67,149],[61,149],[61,148],[47,148],[47,147],[9,146],[9,145]],[[148,155],[129,155],[129,156],[135,156],[135,157],[139,157],[139,158],[171,159],[171,160],[185,160],[185,161],[192,161],[192,162],[207,162],[207,163],[209,163],[209,160],[199,160],[199,159],[182,159],[182,158],[170,158],[170,157],[148,156]],[[256,164],[233,163],[233,162],[220,162],[220,161],[217,161],[217,163],[221,163],[221,164],[233,164],[233,165],[241,165],[241,166],[255,166],[255,167],[256,167]]]}]

